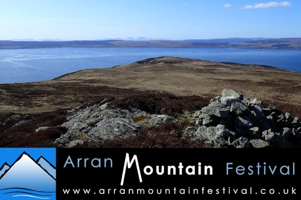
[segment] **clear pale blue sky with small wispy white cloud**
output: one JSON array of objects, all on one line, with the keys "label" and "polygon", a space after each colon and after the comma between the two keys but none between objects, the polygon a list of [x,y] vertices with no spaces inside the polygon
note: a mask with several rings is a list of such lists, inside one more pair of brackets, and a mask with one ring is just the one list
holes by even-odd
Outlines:
[{"label": "clear pale blue sky with small wispy white cloud", "polygon": [[0,40],[301,37],[301,0],[0,0]]}]

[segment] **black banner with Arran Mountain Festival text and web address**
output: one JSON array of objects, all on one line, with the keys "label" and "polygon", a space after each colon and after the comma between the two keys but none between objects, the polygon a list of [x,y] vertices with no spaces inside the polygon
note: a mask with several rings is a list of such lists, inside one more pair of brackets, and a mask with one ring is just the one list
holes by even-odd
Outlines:
[{"label": "black banner with Arran Mountain Festival text and web address", "polygon": [[297,148],[58,148],[57,199],[299,199]]}]

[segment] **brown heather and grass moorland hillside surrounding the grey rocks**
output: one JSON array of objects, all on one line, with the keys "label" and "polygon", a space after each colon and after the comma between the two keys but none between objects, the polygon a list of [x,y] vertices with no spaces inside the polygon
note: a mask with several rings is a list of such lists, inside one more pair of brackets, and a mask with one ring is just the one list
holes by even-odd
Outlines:
[{"label": "brown heather and grass moorland hillside surrounding the grey rocks", "polygon": [[[136,145],[141,146],[141,141],[148,141],[148,146],[156,146],[159,144],[154,142],[159,137],[161,140],[164,138],[165,142],[173,141],[171,147],[200,146],[186,140],[182,131],[192,125],[190,114],[208,105],[211,98],[220,96],[224,88],[241,92],[249,98],[261,99],[266,106],[274,102],[283,113],[289,112],[295,117],[301,116],[300,80],[301,73],[266,65],[155,57],[110,68],[75,71],[53,80],[0,84],[0,136],[3,138],[0,146],[54,146],[55,139],[70,131],[61,126],[70,120],[69,114],[75,116],[75,111],[91,112],[91,109],[84,111],[84,108],[95,108],[101,103],[133,113],[137,113],[138,109],[141,113],[145,112],[143,117],[146,118],[153,117],[151,114],[168,114],[181,121],[177,124],[169,122],[155,129],[142,128],[139,131],[144,134],[139,135],[144,137],[135,137],[137,140],[125,138],[118,145],[114,143],[118,140],[114,140],[106,145],[123,146],[122,143],[127,143],[131,146],[135,141],[138,143]],[[141,120],[141,116],[137,115],[137,121]],[[89,130],[86,125],[82,128],[81,132]],[[149,137],[147,132],[159,132],[161,135]],[[166,132],[169,134],[162,135]],[[74,136],[84,137],[80,132]]]}]

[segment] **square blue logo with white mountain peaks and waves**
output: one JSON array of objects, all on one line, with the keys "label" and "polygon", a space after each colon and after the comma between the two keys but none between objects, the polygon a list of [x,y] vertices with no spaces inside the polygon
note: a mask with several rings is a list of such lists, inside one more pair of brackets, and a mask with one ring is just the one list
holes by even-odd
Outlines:
[{"label": "square blue logo with white mountain peaks and waves", "polygon": [[0,199],[56,199],[55,148],[0,148]]}]

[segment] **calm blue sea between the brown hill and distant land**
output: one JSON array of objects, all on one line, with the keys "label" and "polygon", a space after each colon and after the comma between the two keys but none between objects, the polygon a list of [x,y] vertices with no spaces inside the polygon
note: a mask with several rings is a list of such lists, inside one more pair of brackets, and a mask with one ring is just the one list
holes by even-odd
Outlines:
[{"label": "calm blue sea between the brown hill and distant land", "polygon": [[160,47],[0,49],[0,84],[50,80],[82,69],[113,67],[159,56],[262,64],[301,72],[301,50]]}]

